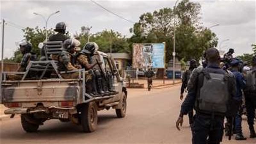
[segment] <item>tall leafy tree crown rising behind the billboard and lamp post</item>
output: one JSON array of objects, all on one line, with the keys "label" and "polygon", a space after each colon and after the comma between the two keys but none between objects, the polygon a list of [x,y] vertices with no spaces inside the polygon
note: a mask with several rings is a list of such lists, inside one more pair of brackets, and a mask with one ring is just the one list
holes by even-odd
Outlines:
[{"label": "tall leafy tree crown rising behind the billboard and lamp post", "polygon": [[130,47],[132,43],[166,42],[166,62],[168,62],[172,59],[175,29],[177,58],[179,60],[184,58],[185,61],[191,58],[199,60],[207,48],[217,46],[218,43],[214,33],[200,26],[200,10],[199,3],[183,0],[174,10],[163,8],[153,13],[142,14],[139,22],[130,29],[133,33],[129,40]]}]

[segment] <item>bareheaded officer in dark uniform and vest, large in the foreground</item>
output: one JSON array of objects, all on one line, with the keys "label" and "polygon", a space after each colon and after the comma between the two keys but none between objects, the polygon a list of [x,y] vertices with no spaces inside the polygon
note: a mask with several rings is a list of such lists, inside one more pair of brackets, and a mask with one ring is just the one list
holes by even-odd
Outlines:
[{"label": "bareheaded officer in dark uniform and vest, large in the foreground", "polygon": [[227,104],[229,98],[236,94],[236,79],[231,72],[219,67],[221,58],[218,50],[208,49],[206,59],[207,67],[199,67],[191,74],[188,95],[176,122],[176,127],[180,130],[183,115],[195,108],[193,144],[219,144],[222,141],[224,116],[229,109]]}]

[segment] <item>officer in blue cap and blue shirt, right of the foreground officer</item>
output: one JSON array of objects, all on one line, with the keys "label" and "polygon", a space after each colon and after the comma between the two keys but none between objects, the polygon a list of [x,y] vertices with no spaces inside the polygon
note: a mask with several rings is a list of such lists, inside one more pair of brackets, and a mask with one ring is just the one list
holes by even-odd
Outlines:
[{"label": "officer in blue cap and blue shirt, right of the foreground officer", "polygon": [[237,101],[239,101],[239,111],[236,114],[235,117],[235,131],[234,133],[236,133],[236,140],[246,140],[246,138],[244,137],[243,133],[242,133],[242,89],[245,88],[246,86],[246,82],[244,79],[244,76],[242,75],[241,72],[239,72],[239,66],[241,64],[241,61],[233,58],[230,62],[230,71],[233,73],[233,75],[235,75],[236,77],[236,95],[235,95],[235,99]]}]

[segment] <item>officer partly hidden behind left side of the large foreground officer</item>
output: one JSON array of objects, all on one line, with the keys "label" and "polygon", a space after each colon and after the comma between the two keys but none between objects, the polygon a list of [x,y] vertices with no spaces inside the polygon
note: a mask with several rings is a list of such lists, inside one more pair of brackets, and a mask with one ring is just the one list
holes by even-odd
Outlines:
[{"label": "officer partly hidden behind left side of the large foreground officer", "polygon": [[[192,71],[197,68],[197,62],[195,59],[192,59],[189,61],[189,69],[187,69],[183,75],[182,75],[182,85],[181,85],[181,88],[180,88],[180,100],[183,100],[183,93],[185,91],[185,89],[187,88],[187,85],[188,85],[188,82],[189,82],[189,77],[192,73]],[[193,116],[194,116],[194,112],[193,110],[191,110],[189,112],[189,125],[190,127],[192,126],[193,124]]]}]

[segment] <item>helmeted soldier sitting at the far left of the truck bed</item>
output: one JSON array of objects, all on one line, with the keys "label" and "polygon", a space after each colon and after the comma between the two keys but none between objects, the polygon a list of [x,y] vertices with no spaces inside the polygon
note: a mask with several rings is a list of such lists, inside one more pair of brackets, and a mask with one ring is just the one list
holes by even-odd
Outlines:
[{"label": "helmeted soldier sitting at the far left of the truck bed", "polygon": [[[29,61],[36,60],[36,55],[31,52],[32,44],[26,40],[22,40],[20,42],[19,48],[23,56],[20,62],[20,66],[17,69],[17,72],[25,72],[26,66],[29,64]],[[22,77],[23,75],[14,75],[14,74],[7,75],[7,79],[11,81],[21,80]],[[32,74],[30,74],[30,77],[32,77]]]}]

